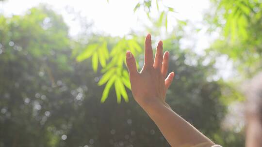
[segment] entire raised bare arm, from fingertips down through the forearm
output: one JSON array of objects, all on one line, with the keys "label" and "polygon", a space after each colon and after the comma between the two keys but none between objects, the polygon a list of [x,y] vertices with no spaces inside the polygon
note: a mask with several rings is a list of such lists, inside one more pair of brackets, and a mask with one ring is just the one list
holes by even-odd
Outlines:
[{"label": "entire raised bare arm, from fingertips down through the forearm", "polygon": [[168,52],[163,55],[163,42],[160,41],[157,45],[155,59],[153,59],[150,34],[146,37],[145,63],[140,73],[137,71],[133,55],[127,51],[127,67],[135,101],[156,123],[172,147],[211,147],[215,145],[176,114],[165,102],[166,90],[175,76],[175,73],[171,72],[166,77],[168,58]]}]

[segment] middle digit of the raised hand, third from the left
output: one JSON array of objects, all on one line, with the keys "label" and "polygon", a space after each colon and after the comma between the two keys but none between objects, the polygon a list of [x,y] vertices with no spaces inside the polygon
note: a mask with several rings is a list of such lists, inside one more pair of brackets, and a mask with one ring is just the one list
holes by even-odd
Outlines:
[{"label": "middle digit of the raised hand, third from the left", "polygon": [[154,61],[154,68],[161,70],[163,61],[163,42],[160,41],[157,45],[155,61]]}]

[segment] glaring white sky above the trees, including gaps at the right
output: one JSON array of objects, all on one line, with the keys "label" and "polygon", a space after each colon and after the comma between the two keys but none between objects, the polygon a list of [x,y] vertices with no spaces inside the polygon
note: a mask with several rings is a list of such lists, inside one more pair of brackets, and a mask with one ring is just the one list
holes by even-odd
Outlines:
[{"label": "glaring white sky above the trees, including gaps at the right", "polygon": [[[132,30],[143,30],[143,25],[148,24],[147,16],[143,9],[133,12],[135,5],[141,0],[7,0],[3,3],[1,12],[4,15],[21,15],[26,10],[39,3],[48,3],[58,13],[62,14],[71,36],[80,31],[79,24],[68,15],[66,8],[80,12],[89,22],[93,22],[93,30],[112,36],[124,36]],[[143,0],[142,0],[143,1]],[[151,14],[157,16],[155,0],[152,0]],[[191,28],[185,29],[187,35],[181,40],[181,48],[192,48],[198,54],[203,54],[203,50],[218,37],[218,33],[212,35],[206,33],[203,26],[203,14],[210,7],[210,0],[158,0],[160,8],[163,6],[173,7],[177,13],[168,15],[169,28],[176,25],[175,19],[189,20],[194,26],[199,26],[202,30],[192,34]],[[147,32],[145,32],[146,34]],[[152,34],[153,35],[153,34]],[[221,64],[224,64],[221,66]],[[231,65],[227,62],[220,63],[220,68],[229,69]],[[222,69],[228,71],[229,69]],[[221,69],[220,69],[221,70]],[[228,73],[228,72],[226,72]],[[225,72],[223,76],[226,78]],[[225,78],[224,77],[224,78]]]}]

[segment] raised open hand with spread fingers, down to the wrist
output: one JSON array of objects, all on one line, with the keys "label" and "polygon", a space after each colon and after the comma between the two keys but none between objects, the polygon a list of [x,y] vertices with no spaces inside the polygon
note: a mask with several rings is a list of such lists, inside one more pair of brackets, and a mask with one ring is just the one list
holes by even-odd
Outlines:
[{"label": "raised open hand with spread fingers, down to the wrist", "polygon": [[[127,51],[126,60],[130,73],[131,90],[134,99],[145,109],[155,104],[165,103],[166,90],[173,81],[174,72],[168,70],[169,52],[163,55],[163,42],[157,45],[155,59],[153,60],[153,51],[151,46],[151,35],[147,34],[145,41],[145,62],[142,70],[138,73],[134,56]],[[166,77],[166,78],[165,78]]]}]

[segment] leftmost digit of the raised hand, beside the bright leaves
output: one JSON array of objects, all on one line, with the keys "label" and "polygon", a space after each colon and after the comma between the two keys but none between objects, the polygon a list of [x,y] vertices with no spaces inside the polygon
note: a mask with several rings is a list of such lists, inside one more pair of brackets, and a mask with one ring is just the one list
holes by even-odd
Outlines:
[{"label": "leftmost digit of the raised hand, beside the bright leaves", "polygon": [[137,68],[136,68],[135,59],[134,59],[134,56],[132,55],[132,53],[130,51],[127,51],[126,61],[127,61],[127,67],[128,67],[128,71],[129,71],[130,76],[137,75],[138,72],[137,72]]}]

